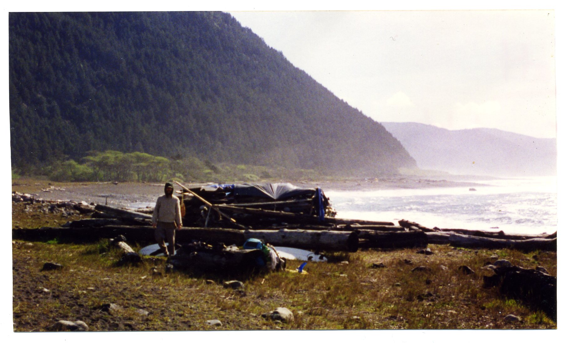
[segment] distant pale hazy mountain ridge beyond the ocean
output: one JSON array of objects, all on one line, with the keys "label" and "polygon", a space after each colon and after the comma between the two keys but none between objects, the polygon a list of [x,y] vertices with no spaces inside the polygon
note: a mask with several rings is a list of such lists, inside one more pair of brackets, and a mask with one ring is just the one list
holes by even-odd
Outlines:
[{"label": "distant pale hazy mountain ridge beyond the ocean", "polygon": [[448,130],[419,123],[382,124],[423,169],[474,175],[556,175],[556,139],[490,128]]}]

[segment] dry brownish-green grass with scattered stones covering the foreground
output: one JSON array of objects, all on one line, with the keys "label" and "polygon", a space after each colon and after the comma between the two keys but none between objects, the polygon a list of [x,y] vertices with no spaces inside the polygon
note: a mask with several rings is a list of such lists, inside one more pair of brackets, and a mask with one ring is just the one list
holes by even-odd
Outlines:
[{"label": "dry brownish-green grass with scattered stones covering the foreground", "polygon": [[[310,263],[307,275],[282,272],[241,279],[245,289],[239,292],[223,288],[222,279],[207,284],[206,278],[191,273],[166,274],[165,258],[116,266],[119,252],[106,251],[104,242],[31,244],[12,245],[15,331],[43,331],[61,319],[83,320],[94,331],[556,328],[543,313],[481,288],[479,267],[495,251],[433,246],[436,254],[428,257],[414,249],[357,252],[349,255],[349,264]],[[498,253],[520,266],[536,265],[531,254]],[[539,265],[556,275],[556,254],[541,253],[538,258]],[[64,267],[40,271],[48,261]],[[372,269],[375,261],[387,267]],[[462,264],[476,273],[460,273],[457,268]],[[419,265],[430,270],[411,271]],[[160,275],[153,274],[154,267]],[[124,309],[103,312],[105,303]],[[291,309],[295,320],[274,324],[260,316],[276,307]],[[137,313],[139,308],[149,315]],[[523,321],[506,323],[503,317],[509,313]],[[223,326],[210,327],[206,324],[210,319],[219,319]]]}]

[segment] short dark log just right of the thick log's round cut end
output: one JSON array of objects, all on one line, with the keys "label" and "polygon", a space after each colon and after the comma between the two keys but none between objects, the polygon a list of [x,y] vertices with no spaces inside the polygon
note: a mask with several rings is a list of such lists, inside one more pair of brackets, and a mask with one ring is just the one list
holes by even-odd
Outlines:
[{"label": "short dark log just right of the thick log's round cut end", "polygon": [[361,247],[365,248],[413,248],[416,246],[427,246],[428,237],[421,231],[395,231],[381,232],[371,230],[358,231],[361,240]]}]

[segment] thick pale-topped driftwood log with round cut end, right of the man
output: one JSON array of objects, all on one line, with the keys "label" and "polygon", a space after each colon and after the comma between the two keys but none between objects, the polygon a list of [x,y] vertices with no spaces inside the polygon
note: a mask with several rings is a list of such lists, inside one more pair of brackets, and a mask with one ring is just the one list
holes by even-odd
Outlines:
[{"label": "thick pale-topped driftwood log with round cut end, right of the man", "polygon": [[345,231],[247,230],[244,236],[245,239],[261,239],[277,246],[328,251],[356,252],[359,242],[356,232]]}]

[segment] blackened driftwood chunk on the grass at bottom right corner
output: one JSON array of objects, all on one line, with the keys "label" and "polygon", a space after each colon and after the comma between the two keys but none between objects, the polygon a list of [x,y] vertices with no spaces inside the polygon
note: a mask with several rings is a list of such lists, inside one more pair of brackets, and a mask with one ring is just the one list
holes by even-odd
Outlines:
[{"label": "blackened driftwood chunk on the grass at bottom right corner", "polygon": [[484,287],[499,287],[502,295],[521,300],[535,309],[541,309],[550,319],[556,321],[556,277],[519,266],[502,266],[493,271],[495,275],[483,276]]}]

